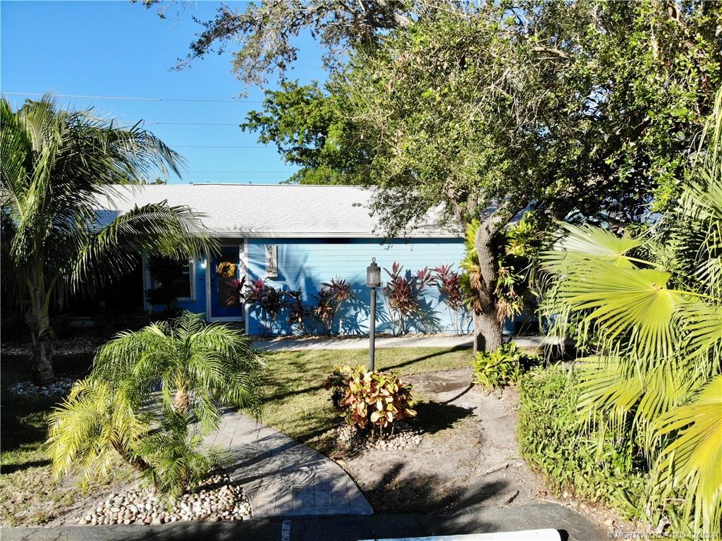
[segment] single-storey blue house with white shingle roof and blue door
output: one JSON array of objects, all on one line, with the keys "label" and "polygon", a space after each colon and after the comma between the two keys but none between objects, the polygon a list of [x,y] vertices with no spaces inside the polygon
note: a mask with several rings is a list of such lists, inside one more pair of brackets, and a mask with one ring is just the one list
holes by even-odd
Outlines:
[{"label": "single-storey blue house with white shingle roof and blue door", "polygon": [[[178,308],[204,313],[209,321],[245,323],[249,334],[263,334],[264,319],[257,306],[234,302],[233,290],[245,277],[267,280],[272,287],[300,290],[305,303],[323,282],[340,278],[349,282],[354,298],[342,308],[334,332],[358,334],[368,331],[370,290],[366,287],[366,267],[373,258],[382,268],[394,261],[404,272],[450,264],[458,270],[464,255],[459,232],[430,223],[418,225],[408,238],[384,239],[378,221],[370,216],[370,192],[354,186],[298,186],[251,184],[183,184],[116,186],[123,199],[103,202],[113,215],[126,212],[134,204],[167,201],[188,205],[204,216],[203,221],[221,244],[219,254],[188,262],[183,268],[183,292]],[[156,287],[144,258],[144,289]],[[382,271],[382,280],[388,274]],[[377,305],[378,332],[391,332],[383,293]],[[409,330],[453,332],[453,318],[436,287],[427,287],[421,305],[428,317],[410,321]],[[162,306],[146,309],[155,311]],[[469,328],[469,319],[464,323]],[[286,315],[279,315],[274,334],[292,332]]]}]

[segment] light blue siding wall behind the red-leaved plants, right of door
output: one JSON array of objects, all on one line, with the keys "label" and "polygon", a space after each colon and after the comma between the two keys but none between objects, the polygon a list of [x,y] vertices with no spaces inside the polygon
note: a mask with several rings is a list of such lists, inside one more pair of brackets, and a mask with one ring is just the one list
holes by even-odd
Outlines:
[{"label": "light blue siding wall behind the red-leaved plants, right of door", "polygon": [[[417,269],[438,267],[450,264],[458,270],[458,262],[464,256],[464,241],[461,239],[393,239],[380,244],[375,239],[351,238],[249,238],[248,239],[248,280],[258,280],[266,276],[266,245],[277,246],[278,276],[269,279],[269,285],[284,290],[301,290],[303,300],[313,303],[315,294],[323,282],[339,277],[352,286],[355,299],[347,301],[342,308],[340,324],[334,326],[334,332],[342,334],[362,334],[368,332],[368,311],[370,290],[366,287],[366,267],[375,257],[382,268],[382,283],[388,279],[383,268],[391,268],[393,261],[404,265],[404,272],[415,274]],[[391,332],[385,298],[380,290],[377,295],[376,329],[378,332]],[[426,324],[415,321],[409,330],[427,332],[453,331],[453,324],[446,306],[440,300],[435,287],[427,288],[422,299],[425,312],[432,314],[435,321]],[[286,313],[282,311],[274,328],[274,334],[289,334]],[[257,309],[250,308],[248,313],[248,332],[264,332],[262,318]],[[469,318],[465,320],[465,330],[470,329]]]}]

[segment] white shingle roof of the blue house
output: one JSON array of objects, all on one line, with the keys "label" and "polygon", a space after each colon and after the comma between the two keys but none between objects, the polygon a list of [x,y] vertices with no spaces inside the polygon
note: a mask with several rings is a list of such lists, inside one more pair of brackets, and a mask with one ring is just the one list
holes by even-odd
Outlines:
[{"label": "white shingle roof of the blue house", "polygon": [[[167,201],[204,215],[206,227],[219,237],[383,237],[378,219],[369,215],[371,192],[357,186],[168,184],[113,189],[120,196],[99,200],[103,222],[135,204]],[[409,236],[458,235],[429,223]]]}]

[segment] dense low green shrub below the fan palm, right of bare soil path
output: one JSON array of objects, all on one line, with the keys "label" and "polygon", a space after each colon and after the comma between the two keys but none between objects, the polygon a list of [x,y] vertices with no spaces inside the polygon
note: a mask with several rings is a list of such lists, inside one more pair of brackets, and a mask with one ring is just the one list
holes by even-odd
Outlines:
[{"label": "dense low green shrub below the fan palm, right of bare soil path", "polygon": [[627,518],[645,513],[649,476],[638,447],[614,439],[592,419],[580,422],[573,373],[536,368],[518,381],[518,441],[522,456],[557,493],[614,506]]}]

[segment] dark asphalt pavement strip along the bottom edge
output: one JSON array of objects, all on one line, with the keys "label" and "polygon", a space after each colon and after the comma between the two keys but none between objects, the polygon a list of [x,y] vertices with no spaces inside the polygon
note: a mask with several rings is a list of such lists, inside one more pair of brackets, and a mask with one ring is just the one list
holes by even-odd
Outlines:
[{"label": "dark asphalt pavement strip along the bottom edge", "polygon": [[161,526],[4,528],[2,541],[357,541],[378,538],[514,532],[553,528],[570,541],[599,541],[606,532],[555,503],[469,508],[445,515],[329,516],[232,522],[175,522]]}]

